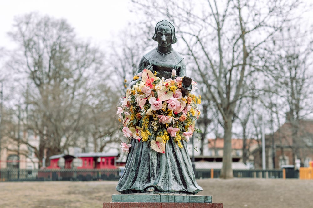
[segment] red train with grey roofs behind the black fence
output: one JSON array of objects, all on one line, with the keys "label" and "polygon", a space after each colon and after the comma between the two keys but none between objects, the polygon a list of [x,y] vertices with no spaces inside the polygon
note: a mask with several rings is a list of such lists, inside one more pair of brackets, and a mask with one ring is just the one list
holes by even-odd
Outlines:
[{"label": "red train with grey roofs behind the black fence", "polygon": [[38,172],[41,180],[116,180],[120,177],[119,154],[89,152],[49,157],[50,165]]}]

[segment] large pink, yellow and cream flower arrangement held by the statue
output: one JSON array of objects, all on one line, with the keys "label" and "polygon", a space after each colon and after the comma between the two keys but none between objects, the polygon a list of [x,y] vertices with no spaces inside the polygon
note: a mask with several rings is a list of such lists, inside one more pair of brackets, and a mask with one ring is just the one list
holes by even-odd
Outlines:
[{"label": "large pink, yellow and cream flower arrangement held by the statue", "polygon": [[[122,123],[120,130],[127,138],[138,142],[149,142],[153,150],[165,153],[165,145],[174,139],[179,148],[181,140],[189,141],[195,128],[194,123],[200,116],[198,105],[200,95],[182,95],[183,77],[173,79],[156,77],[150,70],[144,69],[134,80],[141,80],[127,89],[117,114]],[[141,78],[141,79],[140,79]],[[193,89],[196,83],[192,81]],[[129,152],[131,144],[121,143],[123,152]]]}]

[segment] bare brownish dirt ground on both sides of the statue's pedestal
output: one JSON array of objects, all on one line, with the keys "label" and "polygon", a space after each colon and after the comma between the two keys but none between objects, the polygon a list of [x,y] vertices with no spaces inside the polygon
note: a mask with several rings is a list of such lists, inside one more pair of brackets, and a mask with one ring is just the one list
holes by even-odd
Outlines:
[{"label": "bare brownish dirt ground on both sides of the statue's pedestal", "polygon": [[[225,208],[311,208],[313,180],[234,178],[197,180]],[[0,182],[1,208],[101,208],[117,181]]]}]

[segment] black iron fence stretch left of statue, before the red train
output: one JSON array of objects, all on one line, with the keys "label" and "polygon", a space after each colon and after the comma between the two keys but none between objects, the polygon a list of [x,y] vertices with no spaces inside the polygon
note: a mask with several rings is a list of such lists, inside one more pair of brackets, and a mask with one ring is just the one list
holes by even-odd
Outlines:
[{"label": "black iron fence stretch left of statue, before the red train", "polygon": [[0,169],[0,181],[92,181],[119,178],[119,169]]}]

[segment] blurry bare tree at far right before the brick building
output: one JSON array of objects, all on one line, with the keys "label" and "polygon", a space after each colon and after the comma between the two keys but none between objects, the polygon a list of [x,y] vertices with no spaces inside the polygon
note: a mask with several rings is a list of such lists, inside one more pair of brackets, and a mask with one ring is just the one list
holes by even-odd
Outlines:
[{"label": "blurry bare tree at far right before the brick building", "polygon": [[[285,113],[286,117],[282,119],[286,119],[286,122],[291,125],[290,146],[293,152],[293,164],[296,158],[301,158],[300,148],[307,143],[303,140],[305,137],[303,120],[310,118],[313,108],[311,102],[313,37],[311,34],[312,28],[303,30],[300,26],[290,26],[281,31],[280,39],[276,38],[275,45],[269,51],[275,58],[272,61],[273,65],[269,66],[271,91],[277,96],[277,101],[272,105],[278,106],[281,114]],[[276,51],[275,54],[272,53],[273,50]]]}]

